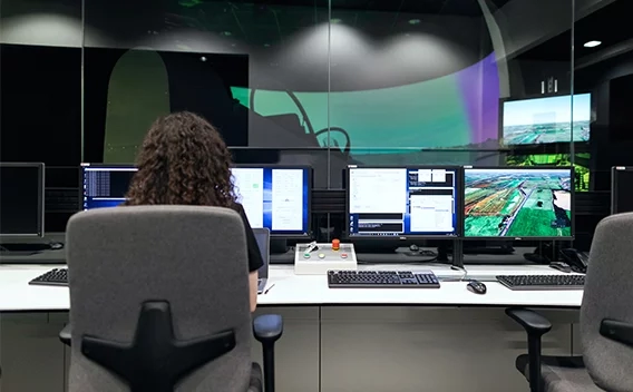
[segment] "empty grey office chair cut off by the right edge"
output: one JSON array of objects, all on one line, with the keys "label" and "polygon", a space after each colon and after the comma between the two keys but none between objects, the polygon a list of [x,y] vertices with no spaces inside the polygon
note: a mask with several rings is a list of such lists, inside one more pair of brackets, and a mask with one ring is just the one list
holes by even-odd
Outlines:
[{"label": "empty grey office chair cut off by the right edge", "polygon": [[506,310],[527,332],[528,354],[516,367],[530,391],[633,391],[632,239],[633,214],[610,216],[596,227],[581,306],[583,356],[542,355],[541,337],[552,324],[529,310]]}]

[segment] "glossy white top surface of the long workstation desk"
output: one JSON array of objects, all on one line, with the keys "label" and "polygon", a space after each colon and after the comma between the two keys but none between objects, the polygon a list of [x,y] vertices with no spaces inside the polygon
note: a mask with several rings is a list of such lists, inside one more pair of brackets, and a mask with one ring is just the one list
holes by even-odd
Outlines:
[{"label": "glossy white top surface of the long workstation desk", "polygon": [[[65,287],[31,286],[33,277],[53,265],[0,266],[0,312],[68,311]],[[460,277],[461,272],[446,265],[371,265],[361,270],[431,270],[440,277]],[[503,274],[559,274],[547,266],[469,266],[468,277],[493,281]],[[329,288],[323,275],[294,275],[292,266],[273,265],[267,294],[259,296],[262,306],[322,305],[428,305],[428,306],[532,306],[580,307],[582,291],[510,291],[496,282],[486,282],[487,293],[478,295],[466,288],[466,282],[441,282],[440,288]]]}]

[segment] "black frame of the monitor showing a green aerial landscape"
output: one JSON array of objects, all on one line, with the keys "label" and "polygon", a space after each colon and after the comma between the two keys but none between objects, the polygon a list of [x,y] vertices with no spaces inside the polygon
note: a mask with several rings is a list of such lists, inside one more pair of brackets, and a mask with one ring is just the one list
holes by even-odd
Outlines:
[{"label": "black frame of the monitor showing a green aerial landscape", "polygon": [[[508,169],[508,170],[571,170],[571,206],[572,206],[572,234],[569,236],[561,236],[561,237],[544,237],[544,236],[523,236],[523,237],[510,237],[510,236],[483,236],[483,237],[474,237],[466,235],[466,170],[474,169],[474,170],[499,170],[499,169]],[[573,166],[464,166],[462,170],[462,183],[461,183],[461,233],[464,241],[573,241],[576,234],[576,190],[575,190],[575,177],[574,177],[574,167]]]}]

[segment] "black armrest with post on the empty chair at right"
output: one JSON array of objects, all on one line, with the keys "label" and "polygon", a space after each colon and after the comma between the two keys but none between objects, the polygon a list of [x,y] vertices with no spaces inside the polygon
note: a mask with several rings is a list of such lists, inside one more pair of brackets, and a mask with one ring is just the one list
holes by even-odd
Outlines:
[{"label": "black armrest with post on the empty chair at right", "polygon": [[532,392],[542,392],[541,337],[552,330],[552,323],[541,314],[520,307],[506,308],[506,314],[527,332],[527,380]]}]

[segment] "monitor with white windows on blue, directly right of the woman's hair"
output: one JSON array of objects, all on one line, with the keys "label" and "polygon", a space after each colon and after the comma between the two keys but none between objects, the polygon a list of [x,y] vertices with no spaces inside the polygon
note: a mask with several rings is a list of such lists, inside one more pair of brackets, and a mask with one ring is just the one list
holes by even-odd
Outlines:
[{"label": "monitor with white windows on blue, directly right of the woman's hair", "polygon": [[236,165],[231,171],[251,227],[277,237],[310,236],[311,167]]}]

